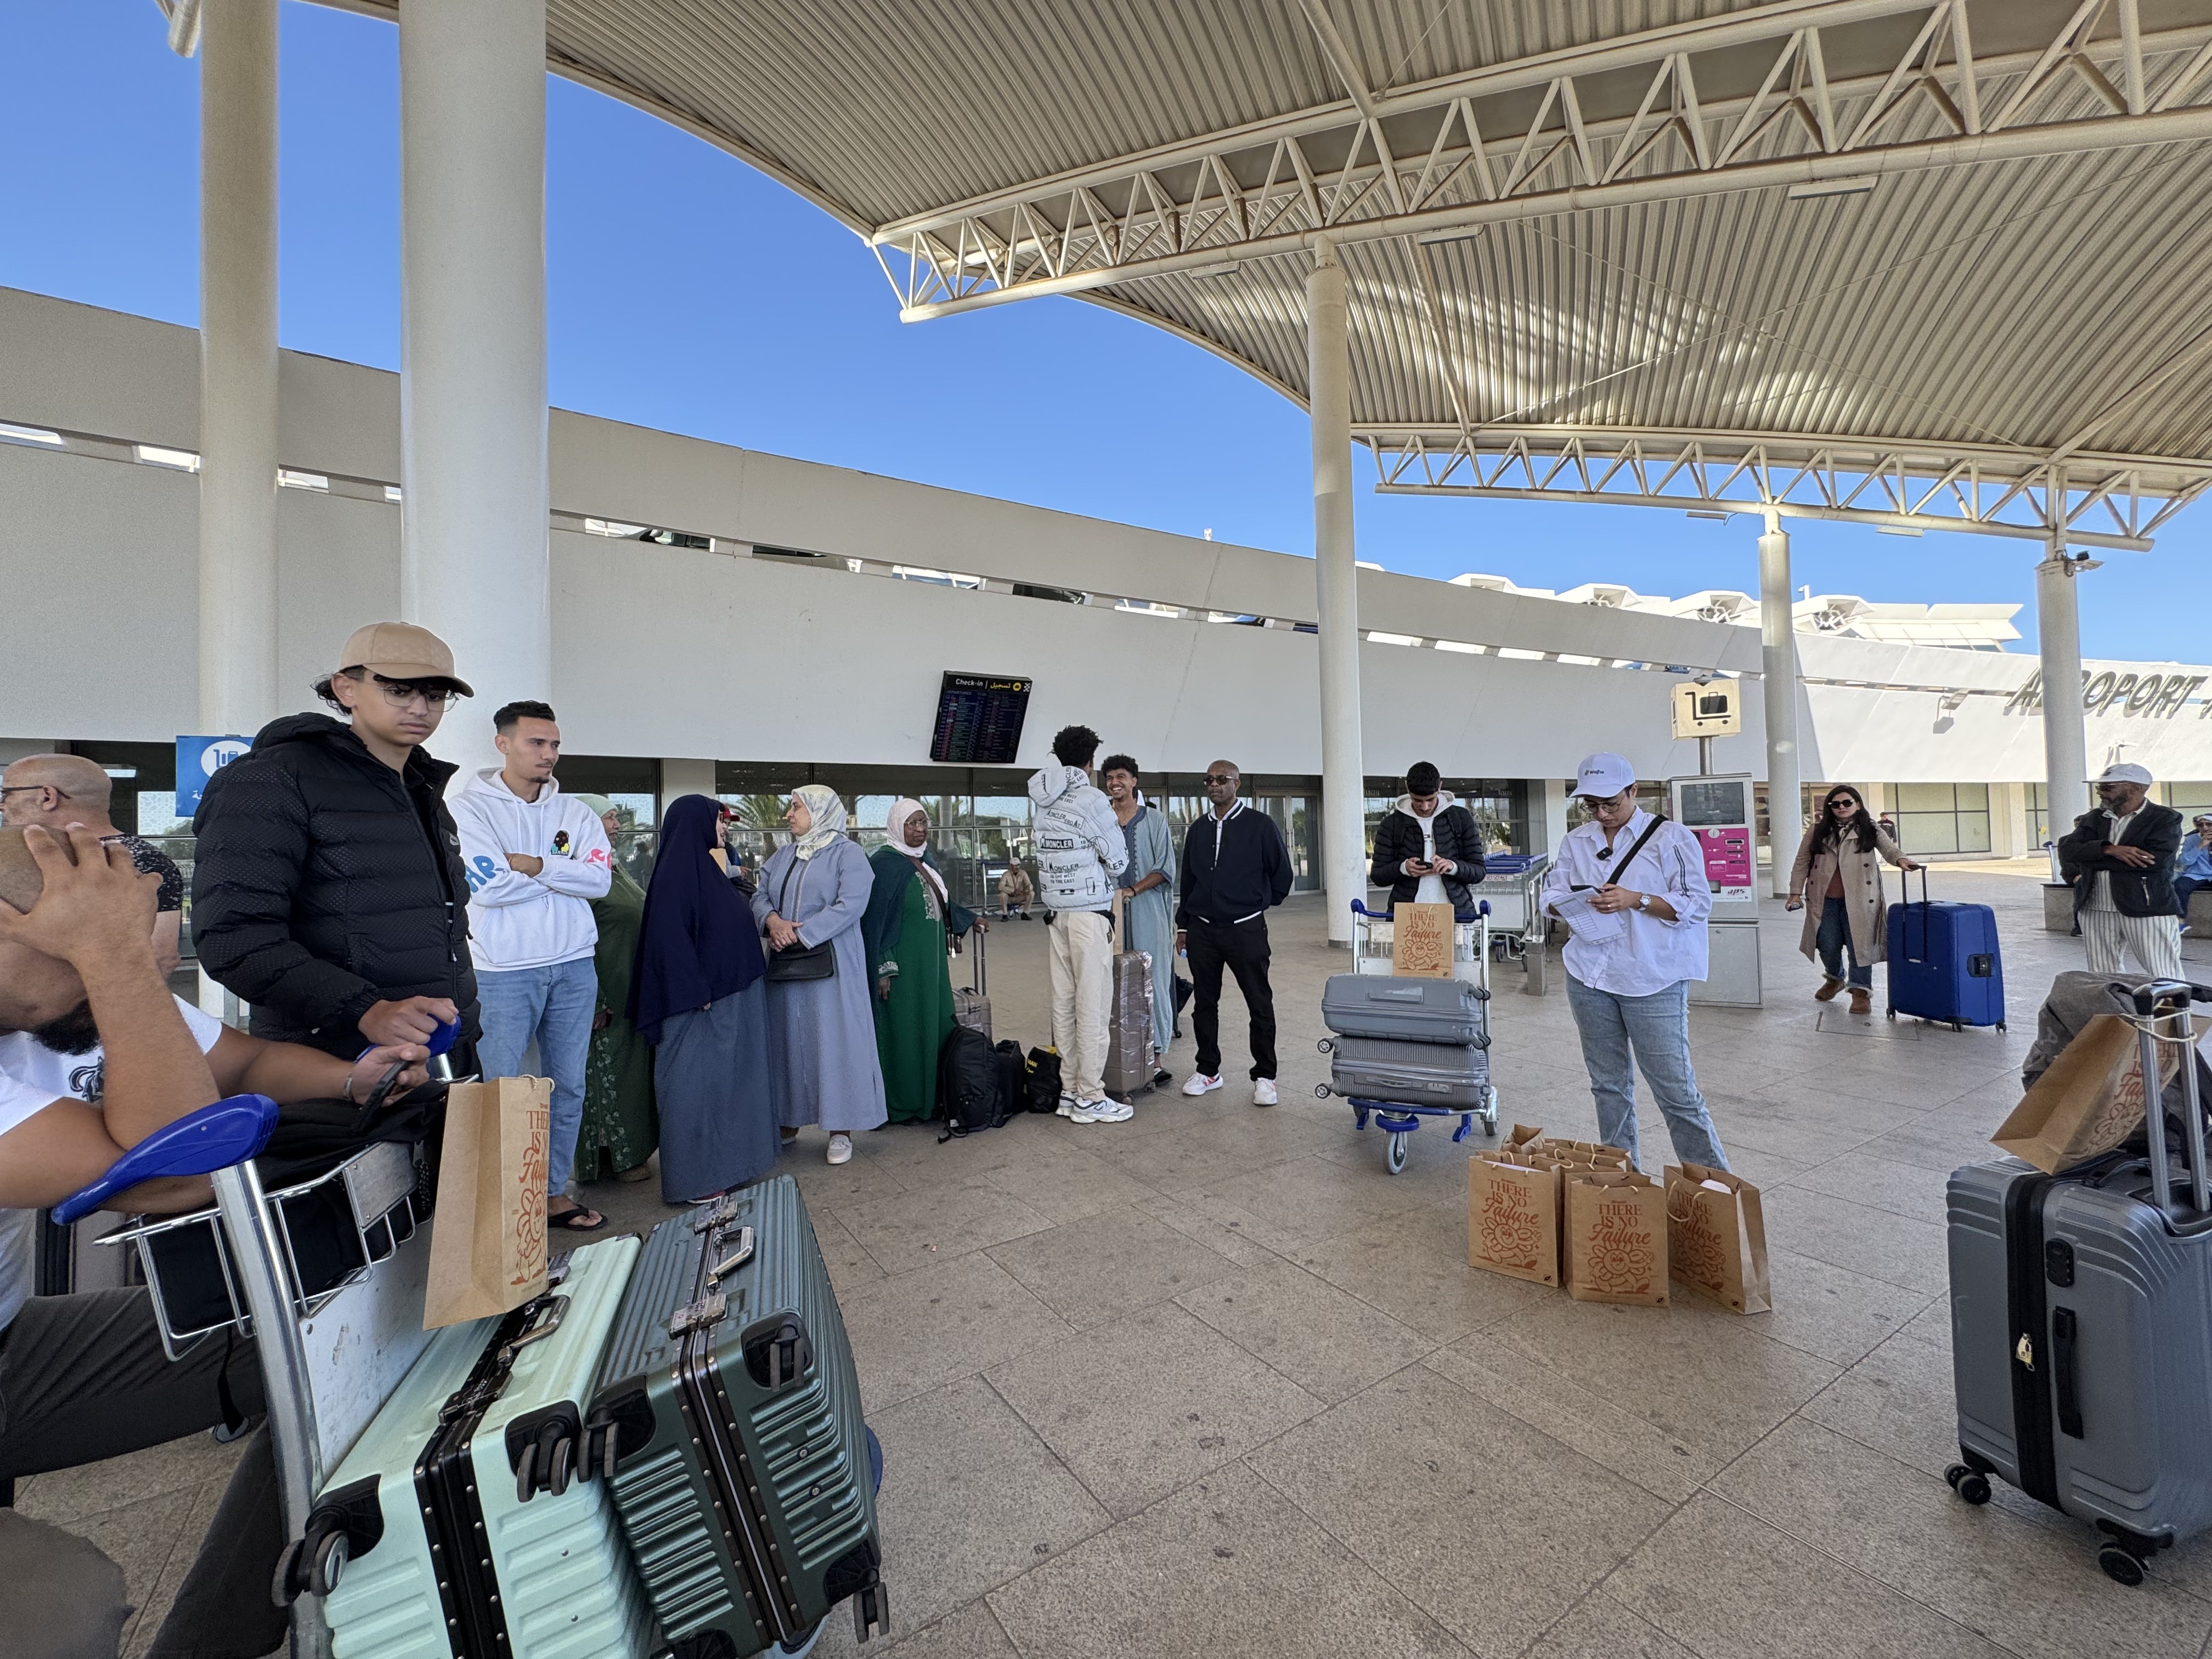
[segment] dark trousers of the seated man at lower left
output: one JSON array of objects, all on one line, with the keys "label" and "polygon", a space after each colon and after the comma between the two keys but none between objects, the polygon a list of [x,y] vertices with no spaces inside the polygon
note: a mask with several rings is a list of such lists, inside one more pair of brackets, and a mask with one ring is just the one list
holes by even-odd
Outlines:
[{"label": "dark trousers of the seated man at lower left", "polygon": [[[170,1360],[144,1290],[33,1296],[0,1334],[0,1478],[75,1469],[212,1429],[228,1416],[226,1396],[230,1413],[261,1411],[261,1365],[250,1340],[210,1336]],[[128,1502],[128,1493],[119,1498]],[[58,1544],[29,1531],[35,1526],[22,1522],[15,1533],[0,1531],[0,1632],[9,1632],[0,1646],[18,1652],[9,1646],[13,1635],[35,1626],[46,1646],[24,1652],[95,1650],[86,1637],[97,1641],[93,1632],[108,1619],[122,1624],[104,1606],[108,1579],[97,1562],[80,1562],[75,1595],[24,1584],[4,1555],[22,1555],[20,1566],[29,1566]],[[230,1475],[208,1537],[148,1650],[153,1659],[254,1659],[283,1646],[285,1615],[270,1604],[281,1548],[276,1467],[263,1425]],[[15,1606],[33,1590],[38,1610]],[[113,1595],[119,1593],[122,1575],[115,1575]]]}]

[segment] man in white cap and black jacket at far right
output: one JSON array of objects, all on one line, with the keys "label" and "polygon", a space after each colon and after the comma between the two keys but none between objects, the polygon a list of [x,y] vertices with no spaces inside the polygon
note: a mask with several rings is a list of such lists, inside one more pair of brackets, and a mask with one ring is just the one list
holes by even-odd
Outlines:
[{"label": "man in white cap and black jacket at far right", "polygon": [[2075,925],[2088,940],[2088,971],[2181,978],[2181,905],[2174,854],[2181,814],[2150,799],[2150,768],[2121,761],[2097,776],[2097,812],[2084,812],[2059,841],[2059,872],[2075,889]]}]

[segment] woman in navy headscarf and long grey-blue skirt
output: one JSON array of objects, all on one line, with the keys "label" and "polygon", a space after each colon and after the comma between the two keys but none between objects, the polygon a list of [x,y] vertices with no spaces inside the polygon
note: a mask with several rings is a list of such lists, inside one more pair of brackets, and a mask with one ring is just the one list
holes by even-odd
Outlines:
[{"label": "woman in navy headscarf and long grey-blue skirt", "polygon": [[768,987],[752,909],[714,847],[723,807],[686,794],[661,818],[630,978],[630,1020],[657,1053],[661,1199],[699,1203],[776,1161]]}]

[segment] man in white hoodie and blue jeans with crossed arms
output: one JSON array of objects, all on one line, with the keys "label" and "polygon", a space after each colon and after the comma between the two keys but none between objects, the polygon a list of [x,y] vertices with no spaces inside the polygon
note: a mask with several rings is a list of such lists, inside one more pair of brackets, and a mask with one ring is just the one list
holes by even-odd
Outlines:
[{"label": "man in white hoodie and blue jeans with crossed arms", "polygon": [[469,872],[469,951],[484,1035],[487,1077],[515,1077],[538,1042],[553,1077],[553,1146],[546,1152],[546,1225],[593,1232],[606,1217],[562,1208],[584,1124],[584,1057],[599,1004],[591,900],[613,885],[599,814],[560,792],[560,726],[544,703],[507,703],[491,717],[504,765],[484,768],[453,801],[460,863]]}]

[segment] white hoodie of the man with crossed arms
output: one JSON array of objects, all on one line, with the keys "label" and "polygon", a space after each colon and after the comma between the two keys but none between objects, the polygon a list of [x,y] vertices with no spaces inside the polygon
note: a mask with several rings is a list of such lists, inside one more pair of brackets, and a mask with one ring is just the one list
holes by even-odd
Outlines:
[{"label": "white hoodie of the man with crossed arms", "polygon": [[[535,801],[507,787],[498,768],[478,772],[453,801],[460,863],[469,872],[469,953],[478,973],[577,962],[599,949],[591,900],[615,880],[599,814],[551,779]],[[507,854],[544,860],[535,876]]]}]

